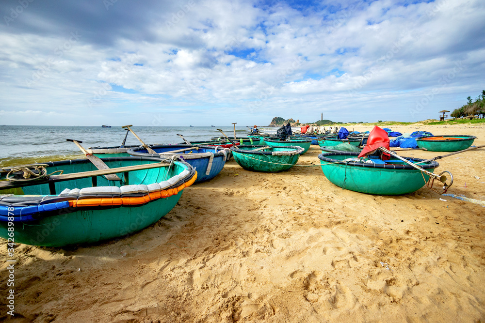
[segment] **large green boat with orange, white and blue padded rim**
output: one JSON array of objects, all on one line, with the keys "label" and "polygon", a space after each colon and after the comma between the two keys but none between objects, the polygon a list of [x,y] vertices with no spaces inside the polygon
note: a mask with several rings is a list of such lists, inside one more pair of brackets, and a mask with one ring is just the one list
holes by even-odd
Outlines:
[{"label": "large green boat with orange, white and blue padded rim", "polygon": [[[25,195],[0,195],[0,237],[34,246],[67,246],[125,237],[157,222],[176,205],[197,178],[185,162],[172,165],[151,157],[102,158],[122,181],[94,173],[87,159],[49,162],[49,180],[0,181],[0,189]],[[119,172],[118,172],[119,171]],[[90,175],[81,172],[89,172]],[[1,173],[4,179],[5,172]],[[18,188],[21,187],[21,190]],[[0,191],[0,193],[8,193]],[[9,225],[10,223],[14,226]],[[9,228],[15,228],[14,233]]]}]

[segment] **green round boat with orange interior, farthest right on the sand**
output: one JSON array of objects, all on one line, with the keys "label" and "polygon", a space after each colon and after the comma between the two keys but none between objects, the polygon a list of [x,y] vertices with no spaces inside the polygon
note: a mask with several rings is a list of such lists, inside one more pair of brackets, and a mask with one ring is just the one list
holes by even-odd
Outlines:
[{"label": "green round boat with orange interior, farthest right on the sand", "polygon": [[457,152],[470,147],[475,139],[475,136],[445,135],[418,138],[416,142],[430,152]]}]

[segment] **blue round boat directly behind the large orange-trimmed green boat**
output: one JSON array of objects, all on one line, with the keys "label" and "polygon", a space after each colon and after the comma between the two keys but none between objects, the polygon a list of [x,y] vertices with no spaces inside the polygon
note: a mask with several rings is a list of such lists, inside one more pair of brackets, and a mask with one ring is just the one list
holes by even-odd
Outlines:
[{"label": "blue round boat directly behind the large orange-trimmed green boat", "polygon": [[144,147],[135,147],[128,151],[132,156],[156,157],[169,161],[173,157],[185,160],[197,171],[195,183],[208,181],[217,176],[230,154],[228,148],[220,146],[191,145],[154,145],[150,146],[157,154],[150,154]]}]

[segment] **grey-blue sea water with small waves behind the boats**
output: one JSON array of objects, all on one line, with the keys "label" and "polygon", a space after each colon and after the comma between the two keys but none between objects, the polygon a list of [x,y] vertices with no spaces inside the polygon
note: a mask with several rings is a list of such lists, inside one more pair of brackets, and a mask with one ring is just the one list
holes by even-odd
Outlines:
[{"label": "grey-blue sea water with small waves behind the boats", "polygon": [[[154,127],[133,126],[131,129],[146,144],[173,144],[189,141],[209,140],[211,137],[222,137],[217,129],[234,136],[234,127]],[[259,128],[265,133],[275,133],[277,128]],[[236,136],[245,137],[247,127],[236,127]],[[66,139],[82,141],[84,148],[119,147],[125,138],[126,130],[121,126],[103,128],[101,126],[31,126],[0,125],[0,167],[47,162],[62,159],[82,158],[79,148]],[[125,145],[139,145],[140,142],[131,133]]]}]

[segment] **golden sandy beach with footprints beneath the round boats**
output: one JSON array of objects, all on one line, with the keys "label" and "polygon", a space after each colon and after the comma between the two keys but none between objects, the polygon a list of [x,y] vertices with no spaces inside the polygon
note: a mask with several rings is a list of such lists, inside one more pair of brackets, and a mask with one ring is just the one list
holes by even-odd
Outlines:
[{"label": "golden sandy beach with footprints beneath the round boats", "polygon": [[[484,124],[390,128],[485,144]],[[485,207],[426,187],[404,196],[343,190],[325,178],[318,154],[311,146],[298,161],[317,167],[280,173],[232,159],[119,241],[17,246],[10,321],[483,322]],[[484,201],[484,160],[483,148],[438,160],[436,171],[454,176],[448,194]],[[3,307],[0,320],[8,317]]]}]

